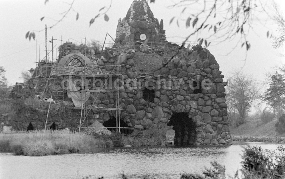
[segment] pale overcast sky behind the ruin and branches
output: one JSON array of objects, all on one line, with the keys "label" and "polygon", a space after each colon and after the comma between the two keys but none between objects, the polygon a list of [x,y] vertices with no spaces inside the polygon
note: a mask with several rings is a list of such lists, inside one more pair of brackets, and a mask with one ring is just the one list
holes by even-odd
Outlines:
[{"label": "pale overcast sky behind the ruin and branches", "polygon": [[[264,1],[267,6],[271,5],[271,1],[261,1]],[[6,69],[9,84],[14,85],[16,82],[22,82],[21,72],[35,67],[34,62],[44,58],[44,25],[47,24],[50,27],[56,23],[55,20],[62,17],[60,13],[66,11],[69,8],[68,3],[71,2],[71,0],[49,0],[44,5],[44,0],[0,0],[0,66]],[[87,43],[91,42],[91,39],[103,43],[106,32],[115,38],[117,21],[126,16],[133,0],[113,0],[111,8],[106,13],[109,16],[109,21],[104,21],[102,16],[89,27],[90,19],[97,15],[101,7],[109,6],[110,2],[111,0],[75,0],[74,10],[71,10],[52,29],[48,28],[48,39],[53,36],[54,39],[62,39],[62,43],[71,41],[79,45],[80,42],[85,43],[85,38]],[[171,9],[168,7],[174,2],[177,1],[156,0],[155,3],[148,4],[154,17],[164,20],[167,40],[182,42],[187,35],[193,32],[193,28],[186,29],[184,22],[180,24],[180,27],[176,23],[169,24],[170,19],[173,16],[179,16],[182,11],[182,8]],[[276,0],[276,3],[280,9],[285,9],[283,0]],[[193,8],[194,10],[195,8]],[[77,12],[79,19],[76,21]],[[274,12],[269,11],[269,13],[273,14]],[[41,17],[45,18],[40,21]],[[277,33],[276,23],[268,19],[266,15],[260,15],[260,21],[261,23],[253,24],[254,31],[249,33],[248,40],[251,43],[251,49],[247,54],[245,48],[241,48],[240,43],[233,52],[227,55],[235,47],[235,41],[225,41],[208,47],[219,63],[220,71],[225,75],[225,81],[233,71],[238,70],[252,75],[263,85],[264,82],[266,83],[266,74],[273,72],[276,65],[280,66],[285,63],[284,48],[274,49],[272,39],[266,37],[267,31],[272,32],[273,35]],[[36,41],[25,39],[25,34],[28,31],[36,33]],[[189,40],[195,43],[197,37]],[[61,41],[54,41],[54,45],[56,45],[54,54],[56,54],[60,43]],[[108,37],[106,43],[112,43],[111,38]],[[212,44],[215,44],[215,41]],[[52,45],[48,42],[48,49],[51,50],[51,48]],[[51,55],[49,57],[52,58]]]}]

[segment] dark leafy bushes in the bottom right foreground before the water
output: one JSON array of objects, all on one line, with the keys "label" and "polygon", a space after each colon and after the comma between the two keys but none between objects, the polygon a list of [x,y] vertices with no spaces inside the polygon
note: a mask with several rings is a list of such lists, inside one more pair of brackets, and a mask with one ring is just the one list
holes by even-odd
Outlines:
[{"label": "dark leafy bushes in the bottom right foreground before the water", "polygon": [[[276,151],[248,146],[244,148],[242,159],[243,179],[285,178],[285,146],[279,146]],[[215,161],[211,165],[213,168],[205,168],[203,175],[184,173],[181,179],[224,179],[225,166]],[[238,175],[237,171],[234,177],[229,178],[239,179]]]}]

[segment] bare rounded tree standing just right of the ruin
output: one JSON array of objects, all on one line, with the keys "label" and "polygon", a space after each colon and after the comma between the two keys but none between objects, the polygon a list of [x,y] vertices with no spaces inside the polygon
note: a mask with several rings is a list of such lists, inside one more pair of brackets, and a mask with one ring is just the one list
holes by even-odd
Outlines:
[{"label": "bare rounded tree standing just right of the ruin", "polygon": [[236,121],[237,126],[245,122],[245,117],[250,111],[251,105],[259,99],[259,87],[255,79],[240,71],[235,71],[227,85],[227,102],[230,108],[233,108],[239,114]]}]

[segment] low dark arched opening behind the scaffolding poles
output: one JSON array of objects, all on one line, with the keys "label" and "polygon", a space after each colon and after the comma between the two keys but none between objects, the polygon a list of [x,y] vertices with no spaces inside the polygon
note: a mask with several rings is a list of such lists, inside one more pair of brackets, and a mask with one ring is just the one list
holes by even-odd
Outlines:
[{"label": "low dark arched opening behind the scaffolding poles", "polygon": [[[107,127],[110,131],[116,131],[116,118],[113,116],[109,120],[103,123],[104,127]],[[117,129],[118,130],[118,129]],[[123,134],[131,134],[133,132],[133,128],[130,128],[127,123],[125,123],[122,119],[120,119],[120,132]]]}]

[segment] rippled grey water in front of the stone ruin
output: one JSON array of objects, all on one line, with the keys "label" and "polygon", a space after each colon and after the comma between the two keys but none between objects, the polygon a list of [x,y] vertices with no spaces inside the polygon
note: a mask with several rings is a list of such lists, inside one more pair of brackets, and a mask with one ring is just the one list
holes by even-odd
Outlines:
[{"label": "rippled grey water in front of the stone ruin", "polygon": [[180,178],[202,173],[216,160],[233,176],[241,167],[242,146],[276,149],[281,144],[236,142],[232,146],[141,147],[96,149],[92,153],[43,157],[0,153],[0,178]]}]

